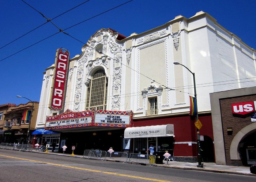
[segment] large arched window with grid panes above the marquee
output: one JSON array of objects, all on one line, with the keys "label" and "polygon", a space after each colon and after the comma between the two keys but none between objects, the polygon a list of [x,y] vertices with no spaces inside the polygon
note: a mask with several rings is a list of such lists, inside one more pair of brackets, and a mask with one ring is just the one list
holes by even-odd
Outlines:
[{"label": "large arched window with grid panes above the marquee", "polygon": [[106,110],[108,79],[104,70],[97,70],[87,88],[86,110]]}]

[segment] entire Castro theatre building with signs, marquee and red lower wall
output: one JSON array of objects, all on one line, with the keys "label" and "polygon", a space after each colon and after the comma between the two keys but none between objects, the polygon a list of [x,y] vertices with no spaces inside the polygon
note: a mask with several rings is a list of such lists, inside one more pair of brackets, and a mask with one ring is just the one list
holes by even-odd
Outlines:
[{"label": "entire Castro theatre building with signs, marquee and red lower wall", "polygon": [[255,50],[204,12],[139,34],[120,33],[93,32],[74,58],[57,50],[43,75],[36,128],[57,132],[59,151],[65,144],[67,153],[75,146],[75,154],[110,147],[145,154],[152,144],[176,161],[197,162],[195,117],[189,115],[193,75],[173,64],[179,62],[195,73],[203,162],[214,162],[209,94],[241,88],[215,82],[255,77]]}]

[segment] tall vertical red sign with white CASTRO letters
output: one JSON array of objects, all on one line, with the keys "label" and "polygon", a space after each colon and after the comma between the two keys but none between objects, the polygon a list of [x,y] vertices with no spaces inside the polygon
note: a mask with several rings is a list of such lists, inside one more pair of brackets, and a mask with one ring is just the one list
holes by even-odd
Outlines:
[{"label": "tall vertical red sign with white CASTRO letters", "polygon": [[67,80],[69,52],[60,48],[56,52],[55,76],[52,86],[52,100],[50,108],[53,110],[62,110],[65,96],[65,86]]}]

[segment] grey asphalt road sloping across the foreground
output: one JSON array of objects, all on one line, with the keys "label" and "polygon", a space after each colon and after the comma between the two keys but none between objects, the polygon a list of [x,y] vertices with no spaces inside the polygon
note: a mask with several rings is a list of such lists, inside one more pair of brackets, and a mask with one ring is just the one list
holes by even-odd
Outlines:
[{"label": "grey asphalt road sloping across the foreground", "polygon": [[0,181],[256,181],[246,175],[169,169],[0,149]]}]

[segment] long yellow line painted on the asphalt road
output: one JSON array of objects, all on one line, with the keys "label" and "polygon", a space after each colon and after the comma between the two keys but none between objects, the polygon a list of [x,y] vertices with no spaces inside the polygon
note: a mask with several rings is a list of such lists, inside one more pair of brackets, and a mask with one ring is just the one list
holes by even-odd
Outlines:
[{"label": "long yellow line painted on the asphalt road", "polygon": [[82,168],[82,167],[73,167],[73,166],[55,164],[55,163],[50,163],[50,162],[35,161],[35,160],[31,160],[31,159],[24,159],[24,158],[19,158],[19,157],[12,157],[12,156],[8,156],[8,155],[1,155],[1,154],[0,154],[0,156],[2,156],[2,157],[8,157],[8,158],[13,158],[13,159],[20,159],[20,160],[23,160],[23,161],[40,162],[40,163],[45,163],[45,164],[54,165],[54,166],[61,166],[61,167],[68,167],[68,168],[80,169],[80,170],[85,170],[85,171],[92,171],[92,172],[96,172],[96,173],[112,174],[112,175],[118,175],[118,176],[123,176],[123,177],[137,178],[137,179],[145,179],[145,180],[158,181],[158,182],[170,182],[170,181],[164,181],[164,180],[160,180],[160,179],[143,178],[143,177],[138,177],[138,176],[126,175],[126,174],[118,174],[118,173],[111,173],[111,172],[106,172],[106,171],[98,171],[98,170],[93,170],[93,169],[86,169],[86,168]]}]

